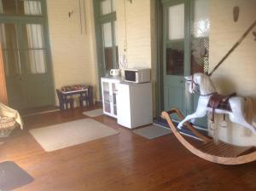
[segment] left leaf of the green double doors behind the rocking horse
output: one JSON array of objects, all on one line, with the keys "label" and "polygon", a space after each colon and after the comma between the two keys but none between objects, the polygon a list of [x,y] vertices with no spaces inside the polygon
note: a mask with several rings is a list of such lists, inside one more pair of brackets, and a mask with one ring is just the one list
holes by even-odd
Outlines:
[{"label": "left leaf of the green double doors behind the rocking horse", "polygon": [[[165,110],[177,107],[186,114],[184,75],[188,74],[187,2],[185,0],[164,3],[163,18],[163,76]],[[174,117],[175,118],[175,117]]]}]

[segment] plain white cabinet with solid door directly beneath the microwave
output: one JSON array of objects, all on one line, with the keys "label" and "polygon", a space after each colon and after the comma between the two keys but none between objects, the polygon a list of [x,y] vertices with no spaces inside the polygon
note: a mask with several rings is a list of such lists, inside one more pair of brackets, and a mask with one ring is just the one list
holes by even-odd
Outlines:
[{"label": "plain white cabinet with solid door directly beneath the microwave", "polygon": [[153,123],[152,84],[117,84],[118,124],[136,128]]}]

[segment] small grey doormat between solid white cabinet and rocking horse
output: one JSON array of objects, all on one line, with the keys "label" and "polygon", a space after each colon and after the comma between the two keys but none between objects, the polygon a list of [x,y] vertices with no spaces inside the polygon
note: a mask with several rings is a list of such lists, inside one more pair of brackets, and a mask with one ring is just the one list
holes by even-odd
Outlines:
[{"label": "small grey doormat between solid white cabinet and rocking horse", "polygon": [[147,139],[154,139],[154,138],[157,138],[160,136],[166,136],[172,133],[170,129],[159,126],[159,125],[154,125],[154,124],[137,129],[137,130],[133,130],[133,132]]}]

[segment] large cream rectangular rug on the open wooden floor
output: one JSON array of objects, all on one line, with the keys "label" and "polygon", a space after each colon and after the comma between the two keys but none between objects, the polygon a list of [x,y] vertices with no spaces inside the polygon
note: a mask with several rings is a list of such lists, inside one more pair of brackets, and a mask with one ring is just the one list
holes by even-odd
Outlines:
[{"label": "large cream rectangular rug on the open wooden floor", "polygon": [[113,130],[94,119],[79,119],[64,124],[55,124],[29,130],[29,132],[46,152],[71,147],[119,133],[119,131]]}]

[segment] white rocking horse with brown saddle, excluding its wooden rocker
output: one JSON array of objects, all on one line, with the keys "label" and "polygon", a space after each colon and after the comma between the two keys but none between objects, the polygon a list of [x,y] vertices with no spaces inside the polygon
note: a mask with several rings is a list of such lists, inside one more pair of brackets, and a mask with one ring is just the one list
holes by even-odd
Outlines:
[{"label": "white rocking horse with brown saddle, excluding its wooden rocker", "polygon": [[[246,98],[236,96],[234,93],[229,96],[219,95],[212,84],[211,78],[203,73],[195,73],[185,78],[189,84],[189,92],[198,94],[199,100],[195,113],[186,116],[185,119],[177,125],[178,129],[182,128],[184,122],[190,119],[205,117],[207,112],[212,112],[212,124],[214,123],[214,113],[228,114],[231,122],[241,124],[247,129],[252,130],[256,135],[255,127],[253,127],[252,124],[248,124],[243,115],[243,113],[245,113]],[[226,103],[226,105],[221,107],[221,103]],[[249,103],[247,104],[251,105]]]}]

